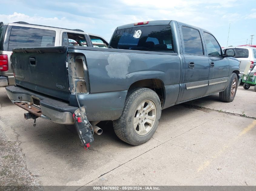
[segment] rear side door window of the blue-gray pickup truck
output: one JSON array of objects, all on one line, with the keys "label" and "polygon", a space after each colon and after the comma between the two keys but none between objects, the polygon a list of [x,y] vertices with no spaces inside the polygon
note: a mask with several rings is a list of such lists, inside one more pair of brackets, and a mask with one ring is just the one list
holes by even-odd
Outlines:
[{"label": "rear side door window of the blue-gray pickup truck", "polygon": [[194,55],[204,55],[203,44],[198,30],[190,27],[181,27],[184,41],[185,53]]}]

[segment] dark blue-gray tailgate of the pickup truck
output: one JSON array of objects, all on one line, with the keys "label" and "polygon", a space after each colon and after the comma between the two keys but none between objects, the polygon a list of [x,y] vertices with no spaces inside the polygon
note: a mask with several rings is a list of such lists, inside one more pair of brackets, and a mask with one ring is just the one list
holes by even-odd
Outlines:
[{"label": "dark blue-gray tailgate of the pickup truck", "polygon": [[13,49],[12,62],[18,86],[69,100],[67,46]]}]

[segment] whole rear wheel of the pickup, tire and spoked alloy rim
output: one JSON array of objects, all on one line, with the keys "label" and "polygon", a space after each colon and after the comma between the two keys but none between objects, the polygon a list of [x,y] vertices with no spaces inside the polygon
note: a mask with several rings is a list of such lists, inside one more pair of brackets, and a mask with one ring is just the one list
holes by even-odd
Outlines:
[{"label": "whole rear wheel of the pickup, tire and spoked alloy rim", "polygon": [[147,142],[161,117],[161,103],[155,91],[135,88],[128,91],[121,117],[113,121],[116,135],[131,145]]}]

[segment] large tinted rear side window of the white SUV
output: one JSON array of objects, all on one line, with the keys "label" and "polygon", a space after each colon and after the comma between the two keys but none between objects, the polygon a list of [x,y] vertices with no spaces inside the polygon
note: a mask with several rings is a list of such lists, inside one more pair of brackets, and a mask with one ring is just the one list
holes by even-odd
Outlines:
[{"label": "large tinted rear side window of the white SUV", "polygon": [[12,26],[8,51],[13,48],[55,45],[54,30]]}]

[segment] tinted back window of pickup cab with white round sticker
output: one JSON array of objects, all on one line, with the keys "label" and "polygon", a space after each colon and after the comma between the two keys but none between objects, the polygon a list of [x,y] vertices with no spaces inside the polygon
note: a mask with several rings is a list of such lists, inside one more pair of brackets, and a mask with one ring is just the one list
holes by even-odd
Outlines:
[{"label": "tinted back window of pickup cab with white round sticker", "polygon": [[116,30],[110,48],[173,52],[170,25],[141,26]]}]

